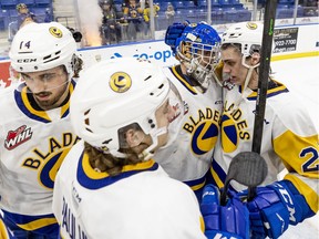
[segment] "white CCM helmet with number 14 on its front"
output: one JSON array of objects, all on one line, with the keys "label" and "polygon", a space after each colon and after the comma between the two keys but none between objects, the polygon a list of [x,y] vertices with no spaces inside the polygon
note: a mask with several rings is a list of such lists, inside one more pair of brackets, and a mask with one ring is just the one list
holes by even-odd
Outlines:
[{"label": "white CCM helmet with number 14 on its front", "polygon": [[14,35],[9,56],[18,72],[38,72],[64,65],[71,73],[75,52],[73,35],[62,24],[30,23]]}]

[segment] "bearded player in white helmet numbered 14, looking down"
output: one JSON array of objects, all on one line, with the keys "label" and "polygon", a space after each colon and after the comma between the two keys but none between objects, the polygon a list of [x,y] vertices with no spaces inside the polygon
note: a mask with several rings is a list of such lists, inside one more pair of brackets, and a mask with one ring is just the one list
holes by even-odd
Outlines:
[{"label": "bearded player in white helmet numbered 14, looking down", "polygon": [[75,51],[72,33],[56,22],[27,24],[11,44],[11,65],[24,82],[0,94],[0,207],[18,238],[58,237],[54,178],[79,139],[69,118]]}]

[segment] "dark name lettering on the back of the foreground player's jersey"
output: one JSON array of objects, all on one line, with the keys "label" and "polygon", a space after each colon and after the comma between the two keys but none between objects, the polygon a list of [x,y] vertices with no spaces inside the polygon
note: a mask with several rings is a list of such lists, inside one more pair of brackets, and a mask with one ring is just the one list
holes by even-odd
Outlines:
[{"label": "dark name lettering on the back of the foreground player's jersey", "polygon": [[69,208],[65,198],[63,197],[63,207],[62,207],[62,222],[61,227],[68,232],[70,238],[88,239],[85,232],[81,229],[81,226],[78,225],[76,218]]}]

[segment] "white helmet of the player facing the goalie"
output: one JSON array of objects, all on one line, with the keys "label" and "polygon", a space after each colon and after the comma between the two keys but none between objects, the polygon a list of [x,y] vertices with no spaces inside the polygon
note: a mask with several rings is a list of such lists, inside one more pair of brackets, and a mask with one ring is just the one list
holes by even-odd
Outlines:
[{"label": "white helmet of the player facing the goalie", "polygon": [[260,51],[264,24],[259,22],[239,22],[227,29],[222,37],[223,44],[240,44],[244,56]]}]

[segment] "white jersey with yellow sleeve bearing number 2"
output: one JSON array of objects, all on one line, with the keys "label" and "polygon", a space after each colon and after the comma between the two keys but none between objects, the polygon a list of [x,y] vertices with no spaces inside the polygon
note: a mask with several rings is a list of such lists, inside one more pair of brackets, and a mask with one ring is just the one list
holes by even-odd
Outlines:
[{"label": "white jersey with yellow sleeve bearing number 2", "polygon": [[[278,180],[282,168],[288,169],[289,179],[305,195],[313,211],[319,201],[318,132],[307,107],[298,95],[276,82],[267,91],[260,155],[268,166],[263,185]],[[244,97],[243,97],[244,95]],[[210,172],[218,187],[224,186],[228,166],[238,153],[251,152],[257,92],[235,86],[226,92],[222,116],[220,141],[218,141]],[[247,175],[249,177],[249,175]],[[233,180],[237,190],[245,189]]]}]

